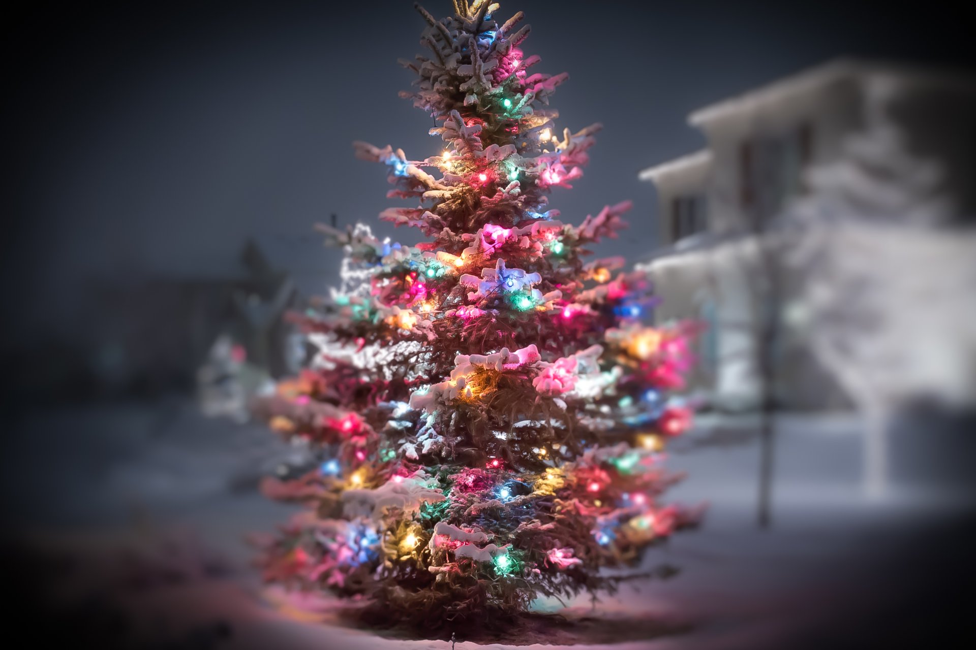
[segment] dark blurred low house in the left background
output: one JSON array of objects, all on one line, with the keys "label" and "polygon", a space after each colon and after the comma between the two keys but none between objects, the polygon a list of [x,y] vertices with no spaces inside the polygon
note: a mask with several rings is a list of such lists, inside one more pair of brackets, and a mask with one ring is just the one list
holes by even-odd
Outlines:
[{"label": "dark blurred low house in the left background", "polygon": [[195,390],[198,368],[221,341],[230,341],[234,356],[255,372],[288,375],[299,351],[282,317],[298,299],[291,275],[273,268],[252,241],[221,274],[134,276],[94,287],[95,316],[75,343],[87,357],[87,390]]}]

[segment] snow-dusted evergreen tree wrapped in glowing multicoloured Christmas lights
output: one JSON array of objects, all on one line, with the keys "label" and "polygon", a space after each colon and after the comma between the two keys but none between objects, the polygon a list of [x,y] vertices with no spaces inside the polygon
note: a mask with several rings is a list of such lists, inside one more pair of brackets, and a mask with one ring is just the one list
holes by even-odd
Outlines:
[{"label": "snow-dusted evergreen tree wrapped in glowing multicoloured Christmas lights", "polygon": [[694,523],[660,502],[662,467],[690,411],[690,325],[641,324],[651,304],[620,258],[585,262],[624,227],[622,203],[581,225],[548,209],[582,175],[599,125],[560,136],[549,97],[566,74],[531,73],[522,14],[456,0],[403,61],[404,93],[443,144],[425,160],[355,143],[383,163],[381,217],[420,229],[417,247],[357,225],[343,287],[298,320],[317,348],[264,406],[307,445],[313,471],[268,479],[307,512],[269,542],[265,578],[365,596],[391,623],[498,625],[542,595],[612,591],[601,567]]}]

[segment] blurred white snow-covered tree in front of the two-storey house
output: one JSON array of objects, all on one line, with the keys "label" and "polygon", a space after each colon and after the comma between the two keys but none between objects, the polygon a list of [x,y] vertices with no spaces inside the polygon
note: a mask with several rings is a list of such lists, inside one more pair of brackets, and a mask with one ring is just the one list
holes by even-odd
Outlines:
[{"label": "blurred white snow-covered tree in front of the two-storey house", "polygon": [[[976,403],[976,230],[952,179],[976,100],[920,73],[876,75],[865,95],[862,129],[807,172],[781,248],[804,275],[793,326],[862,415],[864,486],[883,497],[899,411]],[[940,137],[953,146],[933,151]]]}]

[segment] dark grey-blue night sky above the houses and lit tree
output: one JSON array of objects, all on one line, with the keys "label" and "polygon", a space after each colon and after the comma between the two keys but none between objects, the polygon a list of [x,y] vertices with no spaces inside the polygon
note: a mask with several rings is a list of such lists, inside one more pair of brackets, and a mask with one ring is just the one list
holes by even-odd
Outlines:
[{"label": "dark grey-blue night sky above the houses and lit tree", "polygon": [[[970,23],[931,2],[508,0],[498,16],[518,10],[537,69],[571,75],[557,124],[605,127],[586,176],[551,206],[579,221],[632,199],[629,236],[599,251],[629,258],[656,245],[636,173],[702,144],[691,110],[838,55],[973,57]],[[3,282],[21,333],[88,318],[92,279],[228,274],[247,236],[324,290],[338,258],[311,225],[330,212],[376,222],[390,205],[384,170],[350,142],[439,150],[430,119],[396,96],[411,80],[396,58],[420,51],[424,27],[411,0],[32,2],[5,23]]]}]

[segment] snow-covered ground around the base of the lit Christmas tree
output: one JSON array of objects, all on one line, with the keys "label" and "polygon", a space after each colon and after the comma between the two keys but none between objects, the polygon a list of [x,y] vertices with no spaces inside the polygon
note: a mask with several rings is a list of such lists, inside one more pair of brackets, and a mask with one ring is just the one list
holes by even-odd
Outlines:
[{"label": "snow-covered ground around the base of the lit Christmas tree", "polygon": [[[959,612],[976,604],[966,595],[973,437],[906,423],[893,437],[896,482],[874,502],[860,489],[856,420],[783,417],[774,524],[758,530],[753,430],[745,416],[702,417],[674,445],[670,467],[689,473],[674,499],[711,508],[646,566],[681,573],[627,583],[595,610],[587,598],[570,603],[573,624],[550,631],[551,647],[955,647],[945,639],[966,631]],[[30,625],[43,612],[35,638],[59,620],[100,648],[129,647],[113,636],[159,648],[449,647],[335,625],[338,603],[262,588],[244,538],[292,509],[256,492],[260,474],[290,453],[261,426],[207,420],[174,399],[37,413],[9,436],[0,493],[22,543],[5,554],[16,558],[7,584],[43,598],[43,610],[21,617]],[[509,645],[459,638],[457,647],[539,637],[516,631]]]}]

